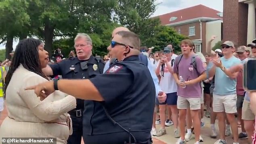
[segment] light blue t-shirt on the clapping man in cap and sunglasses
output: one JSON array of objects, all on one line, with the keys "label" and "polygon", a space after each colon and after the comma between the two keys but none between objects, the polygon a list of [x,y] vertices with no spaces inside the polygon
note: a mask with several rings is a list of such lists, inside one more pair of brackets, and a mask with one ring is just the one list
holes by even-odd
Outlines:
[{"label": "light blue t-shirt on the clapping man in cap and sunglasses", "polygon": [[[221,57],[220,60],[222,62],[222,65],[226,69],[229,69],[232,66],[241,64],[241,60],[236,58],[235,56],[232,56],[229,59],[226,59],[225,57]],[[237,79],[229,78],[218,67],[216,67],[214,82],[215,82],[215,87],[213,90],[214,94],[221,95],[221,96],[236,94]]]}]

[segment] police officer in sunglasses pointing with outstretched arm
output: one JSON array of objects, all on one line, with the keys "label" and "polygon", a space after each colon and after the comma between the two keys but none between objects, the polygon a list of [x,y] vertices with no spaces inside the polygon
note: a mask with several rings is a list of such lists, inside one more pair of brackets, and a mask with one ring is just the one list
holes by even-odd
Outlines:
[{"label": "police officer in sunglasses pointing with outstretched arm", "polygon": [[85,80],[60,79],[31,86],[40,96],[60,90],[92,100],[85,107],[86,144],[150,144],[155,86],[147,67],[139,61],[140,39],[119,31],[111,41],[111,53],[118,58],[102,75]]}]

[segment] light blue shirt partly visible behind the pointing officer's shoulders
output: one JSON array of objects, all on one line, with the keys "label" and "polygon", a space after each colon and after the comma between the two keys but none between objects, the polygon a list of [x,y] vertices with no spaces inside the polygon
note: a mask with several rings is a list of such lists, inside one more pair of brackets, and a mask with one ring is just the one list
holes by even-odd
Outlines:
[{"label": "light blue shirt partly visible behind the pointing officer's shoulders", "polygon": [[[107,71],[107,69],[109,69],[109,63],[110,63],[110,61],[107,61],[105,63],[105,66],[104,66],[104,69],[103,69],[103,73],[105,73],[105,71]],[[147,68],[149,69],[149,72],[150,72],[151,77],[152,77],[152,79],[154,81],[154,84],[155,84],[155,93],[156,93],[155,96],[157,97],[158,93],[160,91],[162,91],[162,90],[161,90],[161,88],[160,88],[160,86],[158,84],[158,78],[157,78],[157,76],[155,74],[155,71],[153,69],[153,66],[152,66],[151,62],[149,61],[149,58],[147,58],[147,63],[148,63]]]}]

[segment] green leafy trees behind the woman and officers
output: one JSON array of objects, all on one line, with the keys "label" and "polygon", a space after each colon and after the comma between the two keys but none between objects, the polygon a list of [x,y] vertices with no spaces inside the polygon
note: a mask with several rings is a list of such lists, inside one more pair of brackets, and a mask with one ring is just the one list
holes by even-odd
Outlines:
[{"label": "green leafy trees behind the woman and officers", "polygon": [[0,39],[6,42],[6,56],[12,50],[13,38],[35,35],[51,56],[61,48],[65,57],[74,50],[77,33],[92,38],[92,54],[105,55],[115,27],[125,26],[137,33],[142,45],[160,50],[180,40],[174,29],[151,19],[156,0],[0,0]]}]

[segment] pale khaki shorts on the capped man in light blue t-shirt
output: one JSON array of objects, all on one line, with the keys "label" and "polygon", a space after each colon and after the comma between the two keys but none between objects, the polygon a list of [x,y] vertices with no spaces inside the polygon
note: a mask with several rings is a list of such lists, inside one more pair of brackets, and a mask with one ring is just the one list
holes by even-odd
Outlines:
[{"label": "pale khaki shorts on the capped man in light blue t-shirt", "polygon": [[214,112],[237,113],[237,95],[220,96],[213,94],[212,108]]}]

